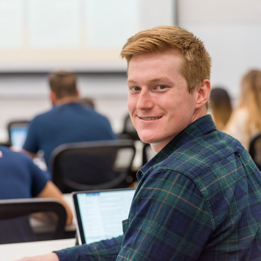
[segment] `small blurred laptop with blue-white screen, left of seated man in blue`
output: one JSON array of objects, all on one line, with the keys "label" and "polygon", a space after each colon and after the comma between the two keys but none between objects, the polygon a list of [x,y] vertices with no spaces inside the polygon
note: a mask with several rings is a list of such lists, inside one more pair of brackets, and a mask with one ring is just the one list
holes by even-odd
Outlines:
[{"label": "small blurred laptop with blue-white screen, left of seated man in blue", "polygon": [[28,121],[14,121],[8,125],[10,145],[22,148],[28,133]]}]

